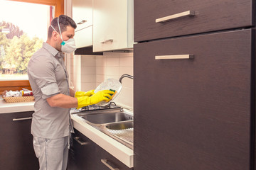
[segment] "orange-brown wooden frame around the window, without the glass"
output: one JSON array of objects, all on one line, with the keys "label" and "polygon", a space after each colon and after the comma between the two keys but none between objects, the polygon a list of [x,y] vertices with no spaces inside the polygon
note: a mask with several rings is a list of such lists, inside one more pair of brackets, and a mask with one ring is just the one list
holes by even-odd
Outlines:
[{"label": "orange-brown wooden frame around the window, without the glass", "polygon": [[[33,4],[43,4],[48,6],[54,6],[55,17],[64,14],[64,0],[9,0],[9,1],[20,1],[28,2]],[[31,90],[31,86],[28,80],[3,80],[0,81],[0,94],[6,90],[21,90],[26,88]]]}]

